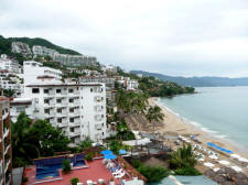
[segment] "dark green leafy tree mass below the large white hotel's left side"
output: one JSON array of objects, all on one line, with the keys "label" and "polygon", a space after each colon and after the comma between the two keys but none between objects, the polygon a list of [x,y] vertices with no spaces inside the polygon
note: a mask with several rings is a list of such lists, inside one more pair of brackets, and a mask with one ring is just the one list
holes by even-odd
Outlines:
[{"label": "dark green leafy tree mass below the large white hotel's left side", "polygon": [[71,142],[61,129],[45,120],[32,121],[24,112],[12,123],[11,132],[14,166],[23,166],[32,163],[32,159],[66,151]]}]

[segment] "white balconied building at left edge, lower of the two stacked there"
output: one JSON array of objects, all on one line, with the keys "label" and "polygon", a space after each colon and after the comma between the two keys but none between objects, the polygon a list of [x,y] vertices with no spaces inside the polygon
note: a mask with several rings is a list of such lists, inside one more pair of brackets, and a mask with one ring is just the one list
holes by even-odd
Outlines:
[{"label": "white balconied building at left edge, lower of the two stacked there", "polygon": [[0,70],[0,87],[14,91],[14,97],[21,96],[24,91],[23,79],[15,73]]}]

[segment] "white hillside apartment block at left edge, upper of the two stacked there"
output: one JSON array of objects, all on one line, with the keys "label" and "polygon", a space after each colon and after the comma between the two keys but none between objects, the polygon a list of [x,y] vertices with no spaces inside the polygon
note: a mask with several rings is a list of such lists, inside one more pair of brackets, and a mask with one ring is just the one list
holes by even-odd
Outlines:
[{"label": "white hillside apartment block at left edge, upper of the two stacked there", "polygon": [[0,57],[0,69],[9,70],[11,73],[21,73],[21,66],[14,59],[8,58],[6,54],[1,54]]}]

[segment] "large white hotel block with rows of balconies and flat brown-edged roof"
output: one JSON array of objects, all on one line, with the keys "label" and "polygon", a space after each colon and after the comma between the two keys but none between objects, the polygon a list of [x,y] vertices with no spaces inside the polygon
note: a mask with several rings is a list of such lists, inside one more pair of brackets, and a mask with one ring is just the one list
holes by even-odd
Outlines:
[{"label": "large white hotel block with rows of balconies and flat brown-edged roof", "polygon": [[25,97],[33,99],[34,118],[61,128],[74,143],[108,137],[104,84],[32,84]]}]

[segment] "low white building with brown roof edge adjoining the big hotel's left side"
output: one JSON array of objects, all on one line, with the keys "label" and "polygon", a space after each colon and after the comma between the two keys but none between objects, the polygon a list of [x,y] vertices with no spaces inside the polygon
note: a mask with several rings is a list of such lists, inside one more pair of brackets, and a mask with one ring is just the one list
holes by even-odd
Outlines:
[{"label": "low white building with brown roof edge adjoining the big hotel's left side", "polygon": [[34,113],[34,104],[31,98],[11,98],[10,99],[10,116],[11,121],[15,122],[18,120],[18,116],[21,112],[25,112],[25,115],[33,119]]}]

